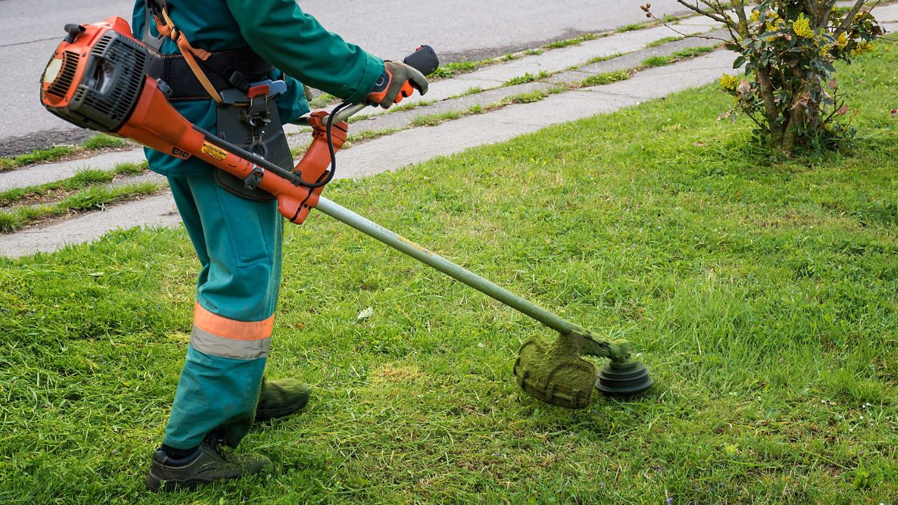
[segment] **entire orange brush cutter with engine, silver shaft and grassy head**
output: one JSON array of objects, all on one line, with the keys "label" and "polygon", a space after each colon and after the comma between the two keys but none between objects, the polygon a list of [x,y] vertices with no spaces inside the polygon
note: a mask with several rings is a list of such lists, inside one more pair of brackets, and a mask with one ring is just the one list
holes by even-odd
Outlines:
[{"label": "entire orange brush cutter with engine, silver shaft and grassy head", "polygon": [[[128,138],[172,156],[196,156],[241,179],[247,188],[261,188],[277,197],[279,212],[302,224],[312,208],[370,235],[401,253],[493,297],[559,332],[555,341],[525,341],[515,361],[515,377],[524,392],[545,403],[571,409],[585,407],[597,388],[603,394],[638,394],[652,385],[645,366],[630,358],[627,341],[608,341],[540,306],[517,297],[487,279],[447,261],[408,239],[321,197],[336,171],[335,152],[347,137],[346,120],[367,104],[344,103],[332,113],[308,118],[313,141],[292,169],[269,163],[196,127],[166,99],[166,84],[145,74],[152,58],[144,44],[130,36],[128,22],[111,17],[104,22],[66,25],[68,37],[59,44],[44,72],[41,101],[48,111],[81,128]],[[406,63],[424,74],[439,62],[433,49],[419,48]],[[608,358],[596,373],[581,356]]]}]

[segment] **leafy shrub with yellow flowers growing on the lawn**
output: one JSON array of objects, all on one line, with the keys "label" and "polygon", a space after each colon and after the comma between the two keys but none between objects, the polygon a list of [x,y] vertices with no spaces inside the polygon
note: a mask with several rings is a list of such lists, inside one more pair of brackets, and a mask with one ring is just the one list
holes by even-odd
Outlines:
[{"label": "leafy shrub with yellow flowers growing on the lawn", "polygon": [[[843,120],[848,107],[832,78],[836,61],[872,49],[882,28],[857,0],[837,8],[835,0],[677,0],[696,13],[724,23],[726,48],[739,53],[734,68],[746,77],[724,75],[721,87],[735,105],[723,117],[742,112],[755,134],[775,151],[831,149],[854,135]],[[655,17],[651,4],[643,5]]]}]

